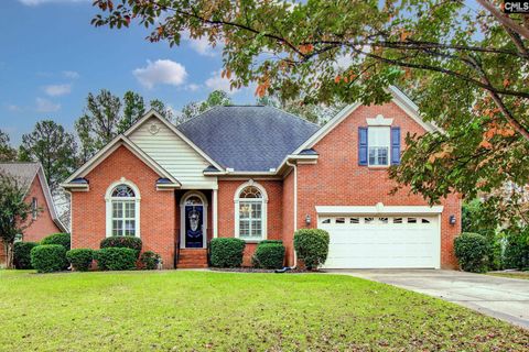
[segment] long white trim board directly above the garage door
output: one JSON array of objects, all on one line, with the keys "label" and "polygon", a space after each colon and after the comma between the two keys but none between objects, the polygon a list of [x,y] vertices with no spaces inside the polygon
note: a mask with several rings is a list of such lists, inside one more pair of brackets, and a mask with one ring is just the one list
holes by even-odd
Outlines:
[{"label": "long white trim board directly above the garage door", "polygon": [[443,206],[316,206],[319,215],[439,215]]}]

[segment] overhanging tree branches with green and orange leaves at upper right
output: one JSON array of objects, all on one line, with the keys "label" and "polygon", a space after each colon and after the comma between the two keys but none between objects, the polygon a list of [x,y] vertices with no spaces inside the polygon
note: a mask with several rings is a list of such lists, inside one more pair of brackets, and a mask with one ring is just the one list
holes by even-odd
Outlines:
[{"label": "overhanging tree branches with green and orange leaves at upper right", "polygon": [[224,77],[259,97],[381,103],[401,87],[443,132],[409,135],[391,176],[436,202],[529,182],[529,24],[478,2],[97,0],[93,24],[222,44]]}]

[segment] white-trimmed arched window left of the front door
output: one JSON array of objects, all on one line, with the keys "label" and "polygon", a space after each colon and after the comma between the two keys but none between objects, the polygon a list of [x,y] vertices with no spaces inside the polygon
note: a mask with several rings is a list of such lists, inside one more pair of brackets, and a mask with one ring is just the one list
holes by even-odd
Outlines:
[{"label": "white-trimmed arched window left of the front door", "polygon": [[107,235],[140,235],[140,195],[125,179],[110,185],[107,201]]}]

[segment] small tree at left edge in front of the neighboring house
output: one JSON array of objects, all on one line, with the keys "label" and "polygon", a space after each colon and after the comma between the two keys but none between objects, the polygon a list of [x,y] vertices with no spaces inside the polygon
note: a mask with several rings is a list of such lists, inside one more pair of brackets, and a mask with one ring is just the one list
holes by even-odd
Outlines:
[{"label": "small tree at left edge in front of the neighboring house", "polygon": [[7,254],[6,266],[13,267],[14,239],[33,222],[31,205],[24,201],[25,185],[0,174],[0,242]]}]

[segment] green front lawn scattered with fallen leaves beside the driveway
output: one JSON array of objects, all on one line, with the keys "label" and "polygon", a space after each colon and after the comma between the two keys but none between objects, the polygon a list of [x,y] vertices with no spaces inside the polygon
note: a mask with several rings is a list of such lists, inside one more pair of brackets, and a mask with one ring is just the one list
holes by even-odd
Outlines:
[{"label": "green front lawn scattered with fallen leaves beside the driveway", "polygon": [[529,331],[325,274],[0,271],[2,351],[522,351]]}]

